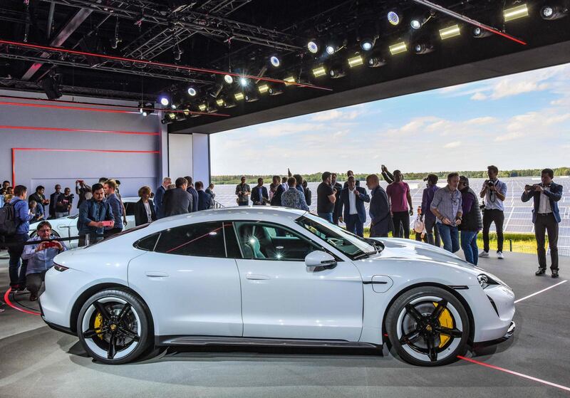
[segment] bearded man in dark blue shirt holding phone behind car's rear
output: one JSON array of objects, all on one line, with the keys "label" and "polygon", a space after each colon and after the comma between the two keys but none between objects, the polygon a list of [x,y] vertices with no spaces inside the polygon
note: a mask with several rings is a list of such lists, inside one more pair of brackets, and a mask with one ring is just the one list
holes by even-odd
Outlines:
[{"label": "bearded man in dark blue shirt holding phone behind car's rear", "polygon": [[98,239],[105,231],[103,221],[108,221],[108,229],[115,225],[115,216],[110,205],[103,201],[105,199],[105,189],[101,184],[93,184],[93,197],[84,201],[79,208],[77,219],[77,229],[79,231],[79,245],[87,246]]}]

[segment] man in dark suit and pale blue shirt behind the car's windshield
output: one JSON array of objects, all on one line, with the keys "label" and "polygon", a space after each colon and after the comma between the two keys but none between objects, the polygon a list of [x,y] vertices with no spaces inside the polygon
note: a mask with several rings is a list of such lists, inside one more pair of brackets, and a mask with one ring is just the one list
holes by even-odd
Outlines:
[{"label": "man in dark suit and pale blue shirt behind the car's windshield", "polygon": [[[364,236],[364,223],[366,222],[366,209],[364,202],[370,201],[366,189],[356,187],[356,179],[353,175],[348,177],[348,185],[341,191],[341,212],[343,216],[339,221],[346,224],[346,230],[358,236]],[[344,211],[343,211],[344,206]]]}]

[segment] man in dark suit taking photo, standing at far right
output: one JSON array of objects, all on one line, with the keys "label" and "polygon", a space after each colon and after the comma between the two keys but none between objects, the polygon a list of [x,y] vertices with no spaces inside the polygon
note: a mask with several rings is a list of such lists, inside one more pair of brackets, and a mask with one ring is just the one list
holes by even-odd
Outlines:
[{"label": "man in dark suit taking photo, standing at far right", "polygon": [[562,197],[562,186],[552,181],[554,171],[544,169],[541,172],[541,184],[524,187],[521,200],[534,199],[532,222],[534,223],[534,236],[537,238],[537,253],[539,269],[534,275],[541,276],[546,272],[546,250],[544,249],[545,231],[548,232],[550,247],[551,277],[558,278],[558,224],[561,221],[558,201]]}]

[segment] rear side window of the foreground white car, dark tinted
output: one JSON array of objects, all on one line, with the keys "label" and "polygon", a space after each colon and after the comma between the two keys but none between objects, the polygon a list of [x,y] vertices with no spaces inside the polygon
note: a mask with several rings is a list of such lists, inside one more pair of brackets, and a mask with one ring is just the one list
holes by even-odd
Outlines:
[{"label": "rear side window of the foreground white car, dark tinted", "polygon": [[161,231],[155,251],[180,256],[225,258],[222,222],[190,224]]}]

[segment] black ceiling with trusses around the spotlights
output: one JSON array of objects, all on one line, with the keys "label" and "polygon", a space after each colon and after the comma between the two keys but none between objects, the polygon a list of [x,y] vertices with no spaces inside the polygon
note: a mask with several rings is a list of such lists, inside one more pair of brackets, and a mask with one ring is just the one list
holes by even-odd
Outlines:
[{"label": "black ceiling with trusses around the spotlights", "polygon": [[[198,131],[202,127],[204,132],[215,132],[256,122],[247,115],[264,115],[259,120],[268,120],[440,87],[446,83],[446,73],[449,83],[461,83],[570,61],[566,59],[570,58],[567,46],[551,47],[552,51],[563,52],[551,53],[552,61],[547,59],[549,52],[534,51],[570,41],[570,17],[556,21],[541,19],[539,10],[546,1],[434,0],[434,3],[509,33],[527,45],[497,34],[473,38],[470,24],[430,11],[412,0],[2,0],[0,40],[16,43],[0,43],[0,84],[4,88],[42,91],[38,82],[46,76],[56,76],[62,93],[68,94],[156,100],[157,95],[167,92],[178,95],[178,105],[195,111],[197,105],[207,103],[208,110],[219,108],[219,113],[234,120],[202,115],[174,122],[169,126],[170,131]],[[564,9],[569,1],[554,3]],[[530,15],[504,23],[503,9],[522,4],[528,4]],[[398,26],[388,23],[386,16],[390,10],[400,15],[402,21]],[[413,16],[430,15],[422,28],[410,28]],[[442,40],[440,28],[455,23],[460,25],[461,35]],[[358,43],[371,35],[378,39],[373,50],[365,53]],[[112,48],[115,37],[120,43]],[[323,43],[333,41],[341,50],[328,57],[323,56],[322,49],[317,55],[311,54],[306,51],[309,38],[318,39],[321,48]],[[392,56],[388,46],[402,41],[408,43],[408,51]],[[85,57],[17,44],[24,42],[167,65]],[[434,51],[415,54],[413,45],[420,42],[432,46]],[[177,60],[175,53],[179,48],[182,54]],[[347,59],[358,54],[373,54],[384,59],[385,66],[348,68]],[[526,56],[519,56],[517,63],[509,66],[509,58],[504,56],[515,54]],[[279,68],[269,64],[271,55],[281,58]],[[494,59],[501,60],[497,61],[496,70],[493,70]],[[315,78],[311,70],[321,64],[327,73],[331,68],[343,68],[346,76]],[[212,91],[218,99],[231,99],[234,93],[243,90],[238,83],[216,90],[222,75],[176,69],[172,65],[231,70],[279,80],[293,75],[298,82],[331,90],[269,83],[282,89],[283,95],[260,94],[256,102],[238,101],[235,108],[217,107]],[[484,73],[460,68],[465,65],[480,65]],[[423,75],[426,79],[430,75],[432,81],[418,79]],[[403,90],[401,85],[409,84],[405,79],[412,77],[415,86]],[[400,82],[400,88],[394,82]],[[255,83],[263,82],[250,80],[245,90],[255,90]],[[195,98],[184,94],[190,85],[198,90]],[[271,110],[276,115],[271,116]]]}]

